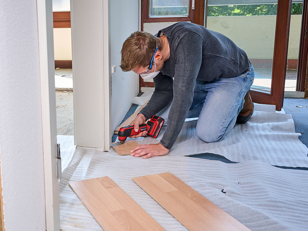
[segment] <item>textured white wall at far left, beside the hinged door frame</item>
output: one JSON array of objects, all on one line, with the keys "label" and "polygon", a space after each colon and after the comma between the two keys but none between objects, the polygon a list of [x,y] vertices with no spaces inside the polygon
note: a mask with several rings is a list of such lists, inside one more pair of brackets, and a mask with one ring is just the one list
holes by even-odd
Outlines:
[{"label": "textured white wall at far left, beside the hinged door frame", "polygon": [[45,230],[36,0],[0,1],[0,155],[5,229]]}]

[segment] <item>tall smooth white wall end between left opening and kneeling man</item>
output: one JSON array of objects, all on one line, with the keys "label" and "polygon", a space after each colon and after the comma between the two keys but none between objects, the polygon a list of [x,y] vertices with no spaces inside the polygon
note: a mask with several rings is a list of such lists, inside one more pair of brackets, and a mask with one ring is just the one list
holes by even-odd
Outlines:
[{"label": "tall smooth white wall end between left opening and kneeling man", "polygon": [[109,150],[111,76],[106,16],[108,0],[71,0],[75,144],[106,150],[108,141]]}]

